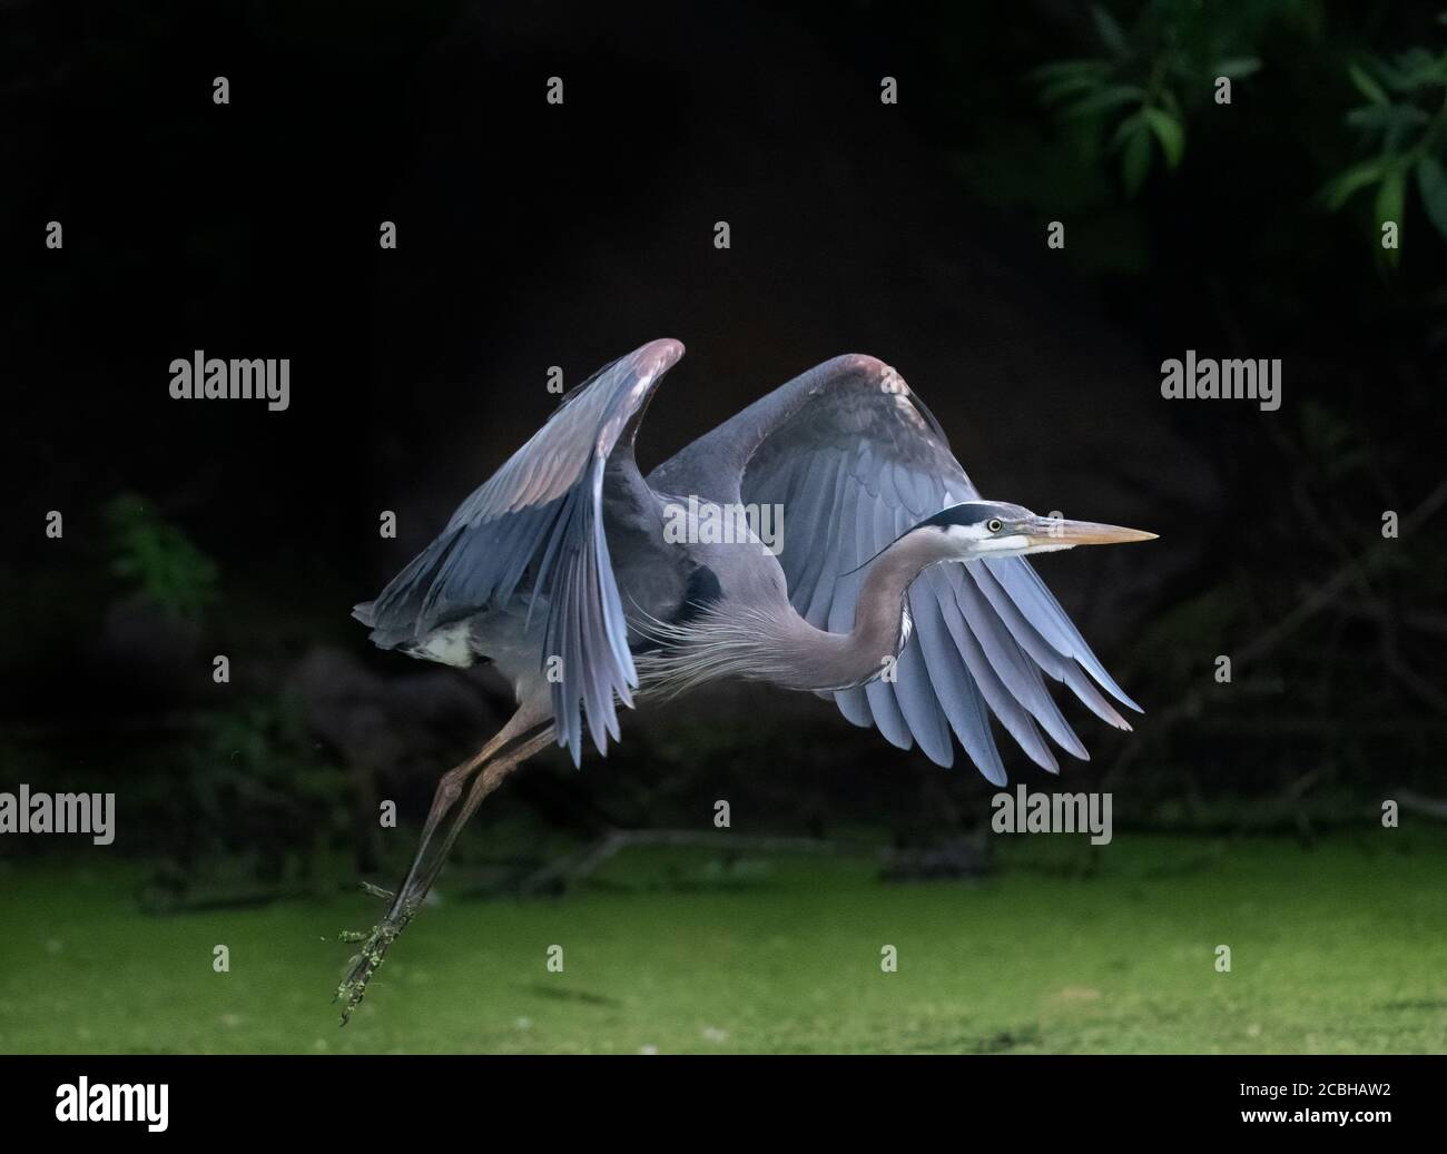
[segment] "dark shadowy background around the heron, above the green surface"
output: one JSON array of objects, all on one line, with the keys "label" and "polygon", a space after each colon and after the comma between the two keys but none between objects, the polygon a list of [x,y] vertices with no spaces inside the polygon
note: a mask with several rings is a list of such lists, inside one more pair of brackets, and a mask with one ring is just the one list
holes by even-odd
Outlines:
[{"label": "dark shadowy background around the heron, above the green surface", "polygon": [[[1383,149],[1349,67],[1441,59],[1430,6],[1108,4],[1113,67],[1172,90],[1187,140],[1134,189],[1129,107],[1062,116],[1032,78],[1110,56],[1082,4],[143,7],[3,16],[0,761],[6,788],[116,790],[164,888],[229,858],[266,885],[326,850],[378,868],[376,798],[420,817],[506,701],[372,651],[350,606],[546,419],[548,366],[663,335],[689,354],[645,464],[867,351],[987,496],[1160,534],[1040,564],[1146,707],[1130,736],[1072,713],[1094,761],[1064,784],[1114,790],[1117,823],[1310,842],[1443,794],[1447,242],[1411,176],[1395,260],[1370,189],[1320,195]],[[1391,93],[1428,119],[1388,155],[1443,153],[1441,95]],[[171,399],[195,349],[289,357],[291,408]],[[1281,409],[1165,402],[1187,349],[1282,359]],[[778,833],[900,845],[990,792],[757,688],[514,785],[534,833],[693,821],[726,788]]]}]

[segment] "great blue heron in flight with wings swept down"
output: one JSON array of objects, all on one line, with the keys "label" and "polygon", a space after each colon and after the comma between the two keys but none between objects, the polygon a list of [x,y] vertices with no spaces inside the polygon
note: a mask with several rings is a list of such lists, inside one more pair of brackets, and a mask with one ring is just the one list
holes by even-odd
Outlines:
[{"label": "great blue heron in flight with wings swept down", "polygon": [[[478,804],[551,742],[577,764],[586,730],[606,753],[615,703],[635,691],[741,677],[816,693],[939,765],[954,761],[954,732],[1001,785],[991,713],[1051,772],[1042,727],[1087,756],[1043,675],[1120,729],[1100,688],[1140,710],[1024,554],[1153,534],[981,499],[929,409],[858,354],[794,377],[644,477],[634,438],[680,356],[679,341],[651,341],[573,389],[356,607],[382,648],[491,659],[518,709],[441,778],[411,869],[339,986],[343,1021]],[[718,531],[765,506],[783,512],[777,554],[748,529]],[[710,510],[722,510],[712,531]]]}]

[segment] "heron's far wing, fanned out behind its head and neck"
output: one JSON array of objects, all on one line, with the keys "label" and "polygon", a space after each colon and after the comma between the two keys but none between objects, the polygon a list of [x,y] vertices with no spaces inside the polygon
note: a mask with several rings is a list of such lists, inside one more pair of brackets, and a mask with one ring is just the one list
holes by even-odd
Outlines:
[{"label": "heron's far wing, fanned out behind its head and neck", "polygon": [[[670,492],[702,492],[710,476],[732,474],[737,496],[718,499],[781,505],[789,599],[832,632],[854,625],[865,574],[851,570],[925,518],[980,496],[929,411],[897,373],[865,356],[836,357],[776,389],[658,473],[650,483]],[[935,565],[910,587],[909,609],[913,631],[896,680],[833,698],[852,723],[878,726],[903,749],[919,742],[939,765],[954,761],[952,730],[980,772],[1004,784],[991,713],[1051,772],[1059,766],[1042,727],[1087,758],[1045,674],[1114,726],[1129,729],[1097,684],[1140,709],[1024,558]]]}]

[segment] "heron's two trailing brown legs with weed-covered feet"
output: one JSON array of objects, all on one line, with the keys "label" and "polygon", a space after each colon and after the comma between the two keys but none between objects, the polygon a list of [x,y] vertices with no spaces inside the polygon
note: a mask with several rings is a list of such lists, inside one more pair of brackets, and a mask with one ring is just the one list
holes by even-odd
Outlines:
[{"label": "heron's two trailing brown legs with weed-covered feet", "polygon": [[[352,1017],[352,1011],[356,1008],[357,1002],[362,1001],[362,996],[366,992],[366,985],[376,972],[376,967],[382,965],[382,959],[386,956],[388,947],[396,940],[396,936],[407,928],[407,924],[412,920],[412,917],[415,917],[423,904],[423,898],[427,897],[427,891],[431,889],[433,882],[437,879],[437,873],[441,871],[443,862],[446,860],[453,842],[457,840],[459,832],[482,803],[482,798],[498,788],[502,778],[506,777],[511,769],[527,761],[553,740],[553,726],[547,725],[546,729],[538,732],[538,725],[540,722],[535,714],[530,714],[527,710],[518,710],[508,725],[504,726],[502,732],[488,742],[488,745],[475,758],[470,758],[444,775],[443,784],[437,788],[437,797],[433,800],[433,810],[428,813],[427,826],[423,832],[423,845],[418,847],[417,855],[412,859],[411,869],[407,872],[407,879],[402,882],[402,886],[398,889],[396,897],[392,901],[392,908],[379,924],[372,927],[369,934],[356,934],[350,939],[353,941],[360,941],[362,946],[352,957],[347,973],[337,986],[337,993],[333,999],[343,1002],[343,1025],[346,1025],[347,1018]],[[528,730],[534,732],[530,733]],[[440,850],[428,853],[430,843],[437,832],[437,827],[456,803],[457,794],[462,791],[462,784],[466,781],[469,774],[479,768],[482,768],[483,772],[478,781],[473,782],[473,788],[463,804],[462,813],[453,817]]]}]

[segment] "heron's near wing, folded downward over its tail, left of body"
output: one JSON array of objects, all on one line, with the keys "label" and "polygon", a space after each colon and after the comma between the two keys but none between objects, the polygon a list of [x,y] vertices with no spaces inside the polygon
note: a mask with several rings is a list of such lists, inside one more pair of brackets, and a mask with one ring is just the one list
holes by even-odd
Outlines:
[{"label": "heron's near wing, folded downward over its tail, left of body", "polygon": [[508,602],[547,615],[559,745],[577,762],[583,716],[601,752],[618,739],[616,696],[638,684],[603,534],[603,471],[627,450],[660,377],[683,346],[657,340],[572,390],[546,425],[453,513],[447,528],[355,616],[385,648]]}]

